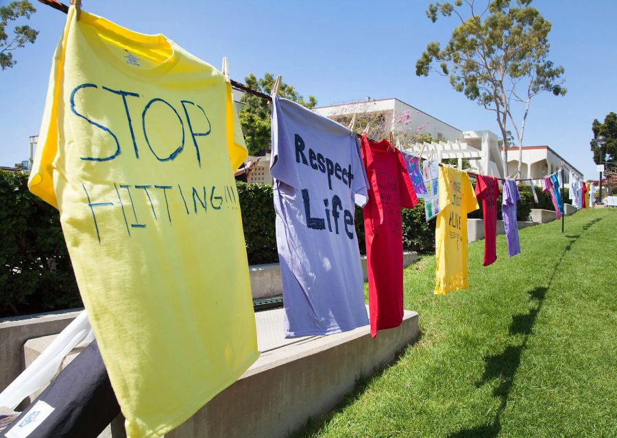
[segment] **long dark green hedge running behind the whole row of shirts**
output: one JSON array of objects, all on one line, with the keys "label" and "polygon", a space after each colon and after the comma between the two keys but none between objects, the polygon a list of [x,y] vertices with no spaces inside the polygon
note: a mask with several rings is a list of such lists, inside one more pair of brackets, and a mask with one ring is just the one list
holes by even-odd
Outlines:
[{"label": "long dark green hedge running behind the whole row of shirts", "polygon": [[[237,188],[249,263],[278,262],[272,186],[238,182]],[[531,208],[553,209],[548,194],[537,190],[540,203],[535,205],[529,187],[519,191],[519,220],[527,220]],[[470,217],[482,218],[482,211]],[[355,225],[365,254],[359,207]],[[403,209],[402,240],[406,250],[435,250],[435,220],[426,222],[422,200],[414,209]],[[0,171],[0,242],[0,317],[82,306],[58,211],[30,194],[27,175],[20,172]]]}]

